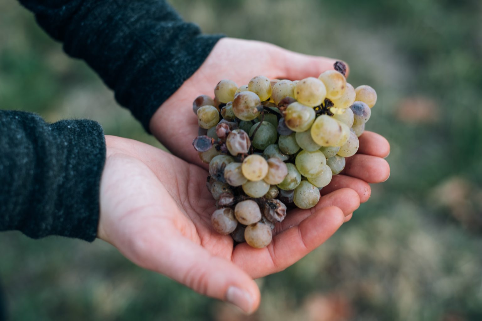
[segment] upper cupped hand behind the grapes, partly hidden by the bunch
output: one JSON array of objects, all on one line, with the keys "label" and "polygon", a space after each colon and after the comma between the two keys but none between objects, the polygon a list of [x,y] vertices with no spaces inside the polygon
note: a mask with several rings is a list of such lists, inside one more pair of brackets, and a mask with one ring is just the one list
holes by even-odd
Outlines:
[{"label": "upper cupped hand behind the grapes, partly hidden by the bunch", "polygon": [[214,87],[221,79],[231,79],[242,86],[258,75],[292,80],[318,77],[323,71],[333,69],[335,61],[288,51],[266,42],[221,39],[201,67],[152,116],[149,128],[174,155],[202,165],[191,145],[199,128],[192,112],[196,97],[214,97]]}]

